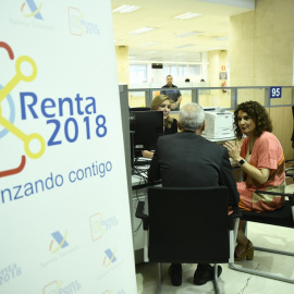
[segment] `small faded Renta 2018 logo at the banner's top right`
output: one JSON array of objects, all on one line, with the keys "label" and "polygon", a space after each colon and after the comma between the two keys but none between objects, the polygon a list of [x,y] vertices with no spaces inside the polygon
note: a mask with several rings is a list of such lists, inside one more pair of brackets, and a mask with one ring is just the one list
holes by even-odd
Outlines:
[{"label": "small faded Renta 2018 logo at the banner's top right", "polygon": [[98,25],[96,23],[88,22],[84,13],[77,8],[69,8],[69,22],[72,35],[100,35]]}]

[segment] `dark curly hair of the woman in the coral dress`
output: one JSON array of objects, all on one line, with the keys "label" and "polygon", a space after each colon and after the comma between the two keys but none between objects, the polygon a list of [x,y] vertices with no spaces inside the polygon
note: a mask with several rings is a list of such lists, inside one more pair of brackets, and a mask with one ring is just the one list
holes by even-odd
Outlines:
[{"label": "dark curly hair of the woman in the coral dress", "polygon": [[234,130],[238,139],[243,136],[237,123],[238,111],[246,112],[254,120],[256,125],[254,133],[257,137],[265,131],[272,132],[272,123],[267,110],[257,101],[247,101],[238,105],[234,111]]}]

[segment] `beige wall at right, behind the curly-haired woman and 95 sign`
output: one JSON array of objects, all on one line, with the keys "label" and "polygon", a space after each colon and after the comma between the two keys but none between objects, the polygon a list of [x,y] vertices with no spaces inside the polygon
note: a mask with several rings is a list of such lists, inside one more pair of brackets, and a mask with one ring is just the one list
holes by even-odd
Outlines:
[{"label": "beige wall at right, behind the curly-haired woman and 95 sign", "polygon": [[[231,86],[292,86],[294,1],[256,0],[254,12],[232,16],[230,22]],[[265,93],[259,89],[240,93],[238,101],[246,100],[264,103]],[[271,105],[278,103],[292,105],[292,93],[283,90],[282,99],[271,99]],[[271,109],[271,117],[273,133],[286,159],[294,158],[291,108]]]}]

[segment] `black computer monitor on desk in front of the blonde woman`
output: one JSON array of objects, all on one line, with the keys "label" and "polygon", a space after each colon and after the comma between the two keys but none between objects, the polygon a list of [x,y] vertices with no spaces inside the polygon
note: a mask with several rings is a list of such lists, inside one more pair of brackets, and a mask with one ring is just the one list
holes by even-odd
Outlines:
[{"label": "black computer monitor on desk in front of the blonde woman", "polygon": [[163,135],[163,111],[130,111],[128,118],[135,155],[155,150],[158,137]]}]

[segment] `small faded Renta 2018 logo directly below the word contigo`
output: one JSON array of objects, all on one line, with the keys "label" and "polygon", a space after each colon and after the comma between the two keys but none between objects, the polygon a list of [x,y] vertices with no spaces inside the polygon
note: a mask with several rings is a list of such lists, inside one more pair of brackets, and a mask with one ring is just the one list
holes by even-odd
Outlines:
[{"label": "small faded Renta 2018 logo directly below the word contigo", "polygon": [[115,217],[106,219],[102,213],[95,213],[89,217],[91,241],[95,242],[103,236],[103,234],[119,224]]}]

